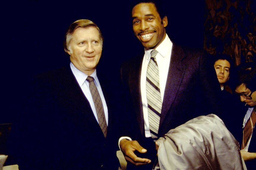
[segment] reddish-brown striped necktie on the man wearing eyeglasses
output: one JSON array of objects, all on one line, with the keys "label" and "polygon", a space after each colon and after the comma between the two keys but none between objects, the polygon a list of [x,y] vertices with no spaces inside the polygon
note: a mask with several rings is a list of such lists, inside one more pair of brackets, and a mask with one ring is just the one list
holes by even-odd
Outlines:
[{"label": "reddish-brown striped necktie on the man wearing eyeglasses", "polygon": [[241,149],[244,149],[252,136],[252,131],[255,127],[255,122],[256,122],[256,111],[255,109],[252,111],[250,118],[246,122],[244,126],[244,131],[243,131],[243,142]]}]

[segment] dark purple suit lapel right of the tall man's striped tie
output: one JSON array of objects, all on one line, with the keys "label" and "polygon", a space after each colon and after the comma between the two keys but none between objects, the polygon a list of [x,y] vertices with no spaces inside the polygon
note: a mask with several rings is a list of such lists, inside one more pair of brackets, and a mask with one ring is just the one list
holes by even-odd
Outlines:
[{"label": "dark purple suit lapel right of the tall man's striped tie", "polygon": [[179,87],[181,85],[181,80],[183,78],[183,75],[186,69],[186,65],[182,63],[182,60],[185,57],[185,54],[182,48],[178,45],[175,45],[174,43],[172,48],[173,49],[171,53],[169,72],[166,80],[164,99],[162,103],[159,129],[161,128],[161,125],[166,115],[168,114],[168,110],[171,108],[173,104],[173,101],[179,90]]}]

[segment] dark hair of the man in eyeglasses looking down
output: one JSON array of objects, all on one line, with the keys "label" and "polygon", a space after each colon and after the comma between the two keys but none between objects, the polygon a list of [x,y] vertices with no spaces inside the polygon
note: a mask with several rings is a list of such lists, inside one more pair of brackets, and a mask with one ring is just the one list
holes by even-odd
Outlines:
[{"label": "dark hair of the man in eyeglasses looking down", "polygon": [[256,63],[246,62],[235,68],[235,75],[230,80],[230,88],[236,90],[239,85],[244,84],[252,92],[256,91]]}]

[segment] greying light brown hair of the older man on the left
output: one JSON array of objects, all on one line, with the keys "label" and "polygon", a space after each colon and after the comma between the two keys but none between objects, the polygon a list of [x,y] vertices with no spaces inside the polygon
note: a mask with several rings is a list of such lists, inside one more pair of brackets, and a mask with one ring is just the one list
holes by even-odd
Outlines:
[{"label": "greying light brown hair of the older man on the left", "polygon": [[99,27],[92,21],[90,20],[77,20],[75,22],[73,22],[72,24],[69,25],[66,33],[65,33],[65,38],[64,38],[64,42],[63,42],[63,47],[64,47],[64,51],[66,54],[68,54],[67,52],[69,51],[69,43],[70,40],[72,38],[72,34],[75,32],[75,30],[77,28],[87,28],[87,27],[95,27],[98,31],[99,31],[99,38],[100,38],[100,43],[101,45],[103,45],[103,36],[99,30]]}]

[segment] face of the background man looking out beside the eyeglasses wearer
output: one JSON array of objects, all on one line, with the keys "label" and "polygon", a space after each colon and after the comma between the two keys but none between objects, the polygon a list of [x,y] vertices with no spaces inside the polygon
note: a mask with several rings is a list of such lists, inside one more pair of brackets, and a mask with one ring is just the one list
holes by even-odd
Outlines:
[{"label": "face of the background man looking out beside the eyeglasses wearer", "polygon": [[229,79],[230,63],[227,60],[219,59],[215,61],[214,68],[219,80],[219,84],[221,87],[223,87]]}]

